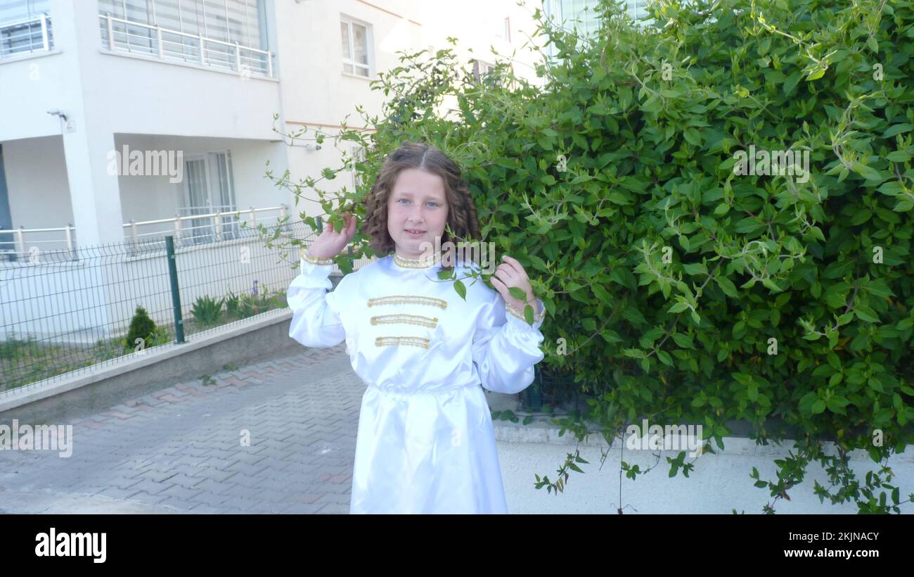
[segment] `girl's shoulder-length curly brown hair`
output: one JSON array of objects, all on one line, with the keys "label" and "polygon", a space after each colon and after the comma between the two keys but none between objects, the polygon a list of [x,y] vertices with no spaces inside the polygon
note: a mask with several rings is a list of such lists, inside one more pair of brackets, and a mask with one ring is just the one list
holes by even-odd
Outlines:
[{"label": "girl's shoulder-length curly brown hair", "polygon": [[[452,239],[451,233],[445,229],[441,244],[451,241],[456,246],[460,240],[481,240],[476,204],[470,195],[470,188],[463,181],[460,166],[435,146],[404,141],[384,160],[375,184],[365,198],[367,218],[362,232],[371,239],[368,244],[378,256],[387,256],[396,247],[388,232],[388,199],[397,176],[406,168],[425,170],[441,176],[444,181],[444,197],[448,203],[447,225],[457,238]],[[450,267],[442,268],[447,270]]]}]

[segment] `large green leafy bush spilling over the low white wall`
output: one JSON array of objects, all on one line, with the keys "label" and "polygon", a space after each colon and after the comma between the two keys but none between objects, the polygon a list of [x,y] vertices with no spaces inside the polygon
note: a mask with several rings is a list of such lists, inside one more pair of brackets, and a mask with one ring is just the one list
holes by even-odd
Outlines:
[{"label": "large green leafy bush spilling over the low white wall", "polygon": [[[562,433],[611,439],[646,418],[701,424],[723,447],[748,422],[760,443],[795,440],[777,479],[749,475],[766,512],[811,461],[829,475],[823,501],[898,512],[888,460],[914,421],[912,3],[652,6],[658,25],[639,27],[603,2],[592,41],[541,21],[558,50],[537,66],[544,87],[504,60],[509,80],[479,86],[451,49],[403,54],[372,83],[381,117],[359,109],[374,131],[335,137],[366,158],[322,173],[355,167],[363,184],[277,184],[314,190],[339,230],[342,208],[364,219],[385,155],[439,146],[464,168],[484,240],[546,303],[544,364],[575,371],[588,397]],[[881,465],[865,482],[856,449]],[[684,456],[667,457],[671,476],[695,466]],[[580,462],[537,486],[563,490]]]}]

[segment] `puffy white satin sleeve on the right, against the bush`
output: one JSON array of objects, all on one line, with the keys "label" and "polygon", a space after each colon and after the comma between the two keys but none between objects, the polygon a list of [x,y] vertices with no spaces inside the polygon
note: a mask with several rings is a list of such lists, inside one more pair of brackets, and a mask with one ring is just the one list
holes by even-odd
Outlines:
[{"label": "puffy white satin sleeve on the right, against the bush", "polygon": [[493,392],[517,393],[534,379],[534,365],[545,355],[540,350],[544,337],[539,327],[546,317],[546,306],[527,325],[523,312],[509,309],[501,294],[483,307],[473,334],[473,364],[479,370],[483,387]]}]

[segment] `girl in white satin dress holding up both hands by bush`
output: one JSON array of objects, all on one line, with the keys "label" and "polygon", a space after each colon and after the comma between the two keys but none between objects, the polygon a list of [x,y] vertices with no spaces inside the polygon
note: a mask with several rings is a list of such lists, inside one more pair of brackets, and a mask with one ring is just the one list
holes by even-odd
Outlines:
[{"label": "girl in white satin dress holding up both hands by bush", "polygon": [[[466,299],[438,278],[448,262],[435,246],[445,223],[479,239],[473,198],[460,168],[435,147],[404,143],[388,155],[367,202],[363,225],[377,254],[392,254],[347,274],[332,288],[333,257],[356,232],[328,224],[303,252],[287,293],[289,336],[306,347],[346,342],[367,384],[356,437],[350,513],[507,513],[492,415],[482,385],[516,393],[543,358],[545,306],[524,267],[503,257],[491,279],[466,282]],[[439,240],[436,245],[435,240]],[[462,278],[472,261],[457,260]],[[478,270],[478,269],[476,269]],[[526,301],[515,299],[516,286]],[[524,320],[529,304],[534,324]]]}]

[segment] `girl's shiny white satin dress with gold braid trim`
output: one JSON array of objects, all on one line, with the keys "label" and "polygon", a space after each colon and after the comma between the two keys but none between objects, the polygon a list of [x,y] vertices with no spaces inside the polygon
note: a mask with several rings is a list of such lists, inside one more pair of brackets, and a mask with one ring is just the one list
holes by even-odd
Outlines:
[{"label": "girl's shiny white satin dress with gold braid trim", "polygon": [[[438,265],[409,268],[393,255],[327,292],[333,265],[309,261],[286,294],[289,336],[306,347],[345,340],[367,385],[349,512],[507,513],[480,385],[517,393],[533,382],[544,356],[542,301],[530,326],[482,280],[463,281],[464,301],[438,279]],[[455,268],[458,278],[468,270],[463,261]]]}]

